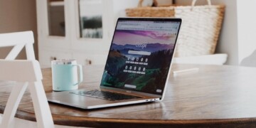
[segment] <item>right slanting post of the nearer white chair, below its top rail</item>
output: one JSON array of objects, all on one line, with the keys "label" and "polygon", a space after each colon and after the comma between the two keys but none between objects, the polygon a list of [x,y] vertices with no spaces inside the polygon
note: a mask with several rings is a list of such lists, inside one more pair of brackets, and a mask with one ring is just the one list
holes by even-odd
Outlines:
[{"label": "right slanting post of the nearer white chair, below its top rail", "polygon": [[43,89],[42,82],[30,82],[28,88],[31,92],[38,127],[54,127],[53,117],[50,113],[50,107],[48,105],[46,92]]}]

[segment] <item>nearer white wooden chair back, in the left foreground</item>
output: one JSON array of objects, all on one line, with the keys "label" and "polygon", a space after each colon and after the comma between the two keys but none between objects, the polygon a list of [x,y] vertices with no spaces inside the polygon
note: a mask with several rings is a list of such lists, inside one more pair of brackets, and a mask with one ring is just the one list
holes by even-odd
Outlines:
[{"label": "nearer white wooden chair back, in the left foreground", "polygon": [[41,68],[37,60],[0,60],[0,80],[16,81],[6,104],[1,127],[12,127],[14,115],[28,86],[36,113],[38,127],[54,127],[46,94],[43,90]]}]

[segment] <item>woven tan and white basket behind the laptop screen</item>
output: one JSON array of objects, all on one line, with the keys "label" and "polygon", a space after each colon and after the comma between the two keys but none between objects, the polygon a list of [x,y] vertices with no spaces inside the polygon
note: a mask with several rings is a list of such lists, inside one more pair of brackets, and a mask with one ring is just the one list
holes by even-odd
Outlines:
[{"label": "woven tan and white basket behind the laptop screen", "polygon": [[225,6],[208,5],[195,6],[157,6],[126,9],[131,17],[176,17],[182,18],[181,30],[178,36],[176,57],[207,55],[215,53],[220,28],[222,26]]}]

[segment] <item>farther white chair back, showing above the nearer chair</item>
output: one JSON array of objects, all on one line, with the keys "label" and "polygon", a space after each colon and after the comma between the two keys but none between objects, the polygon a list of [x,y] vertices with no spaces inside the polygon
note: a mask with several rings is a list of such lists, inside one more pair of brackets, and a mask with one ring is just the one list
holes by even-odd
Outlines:
[{"label": "farther white chair back, showing above the nearer chair", "polygon": [[6,56],[6,60],[14,60],[22,48],[26,48],[26,57],[28,60],[36,60],[33,50],[33,32],[22,31],[16,33],[0,33],[0,47],[14,46],[11,52]]}]

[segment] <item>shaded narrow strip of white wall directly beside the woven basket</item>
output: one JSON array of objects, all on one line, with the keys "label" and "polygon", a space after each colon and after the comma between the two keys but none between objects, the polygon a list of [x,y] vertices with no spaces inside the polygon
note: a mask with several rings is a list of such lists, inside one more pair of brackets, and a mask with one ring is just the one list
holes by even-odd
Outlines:
[{"label": "shaded narrow strip of white wall directly beside the woven basket", "polygon": [[225,5],[223,28],[220,33],[216,53],[228,54],[228,65],[238,65],[238,15],[235,0],[215,0],[213,4]]}]

